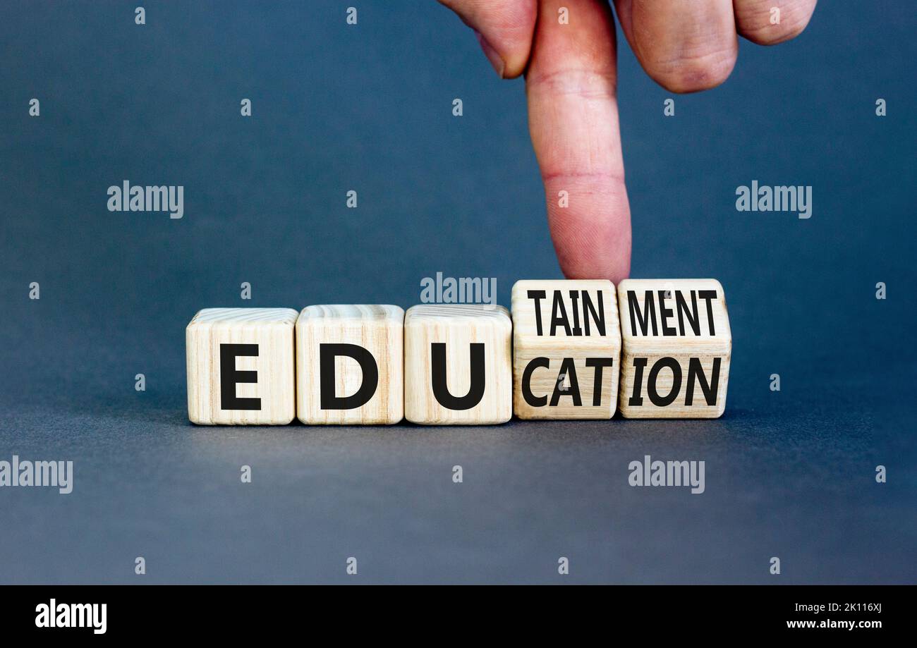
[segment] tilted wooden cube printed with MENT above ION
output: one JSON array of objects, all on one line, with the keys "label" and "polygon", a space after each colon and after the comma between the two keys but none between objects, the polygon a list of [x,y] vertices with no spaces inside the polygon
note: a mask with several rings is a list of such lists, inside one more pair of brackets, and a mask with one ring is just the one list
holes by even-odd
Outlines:
[{"label": "tilted wooden cube printed with MENT above ION", "polygon": [[623,357],[618,407],[627,418],[723,414],[733,339],[713,279],[618,284]]}]

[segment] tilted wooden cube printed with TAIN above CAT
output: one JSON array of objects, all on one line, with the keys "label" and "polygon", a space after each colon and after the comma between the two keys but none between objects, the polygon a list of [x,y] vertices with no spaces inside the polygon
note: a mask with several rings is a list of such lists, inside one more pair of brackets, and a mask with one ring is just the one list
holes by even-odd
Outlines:
[{"label": "tilted wooden cube printed with TAIN above CAT", "polygon": [[610,419],[621,326],[608,280],[513,286],[513,409],[520,419]]}]

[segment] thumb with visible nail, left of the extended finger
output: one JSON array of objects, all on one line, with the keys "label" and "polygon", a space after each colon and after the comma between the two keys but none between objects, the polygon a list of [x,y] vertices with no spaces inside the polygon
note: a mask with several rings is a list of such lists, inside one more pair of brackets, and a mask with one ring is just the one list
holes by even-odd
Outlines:
[{"label": "thumb with visible nail, left of the extended finger", "polygon": [[535,30],[536,0],[439,0],[475,30],[481,49],[504,79],[525,70]]}]

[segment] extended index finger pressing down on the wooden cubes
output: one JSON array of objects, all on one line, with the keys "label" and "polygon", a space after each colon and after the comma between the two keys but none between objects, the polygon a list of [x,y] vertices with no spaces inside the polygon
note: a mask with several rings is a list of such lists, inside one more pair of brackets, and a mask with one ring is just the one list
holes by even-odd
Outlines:
[{"label": "extended index finger pressing down on the wooden cubes", "polygon": [[525,74],[528,124],[545,183],[551,238],[570,279],[617,282],[630,272],[616,84],[608,4],[539,0]]}]

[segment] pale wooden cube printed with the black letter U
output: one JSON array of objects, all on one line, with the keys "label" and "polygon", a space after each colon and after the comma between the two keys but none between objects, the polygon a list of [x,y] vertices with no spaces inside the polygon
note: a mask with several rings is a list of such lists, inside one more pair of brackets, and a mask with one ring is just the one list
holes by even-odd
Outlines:
[{"label": "pale wooden cube printed with the black letter U", "polygon": [[421,304],[404,316],[404,417],[427,425],[513,417],[513,323],[503,306]]}]

